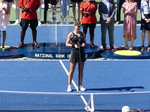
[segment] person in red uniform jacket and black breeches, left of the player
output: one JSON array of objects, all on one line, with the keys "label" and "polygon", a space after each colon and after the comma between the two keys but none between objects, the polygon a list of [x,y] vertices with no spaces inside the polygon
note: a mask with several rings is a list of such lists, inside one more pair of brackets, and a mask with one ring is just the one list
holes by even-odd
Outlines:
[{"label": "person in red uniform jacket and black breeches, left of the player", "polygon": [[28,25],[30,25],[30,28],[32,30],[33,46],[39,47],[38,43],[36,42],[36,27],[38,26],[36,10],[40,7],[40,0],[19,0],[18,6],[22,10],[20,22],[20,26],[22,28],[20,33],[21,41],[18,47],[24,47],[24,37]]}]

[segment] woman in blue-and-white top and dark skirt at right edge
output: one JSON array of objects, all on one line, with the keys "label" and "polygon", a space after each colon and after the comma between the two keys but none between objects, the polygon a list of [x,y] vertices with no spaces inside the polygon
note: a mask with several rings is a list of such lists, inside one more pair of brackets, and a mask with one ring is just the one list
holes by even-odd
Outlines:
[{"label": "woman in blue-and-white top and dark skirt at right edge", "polygon": [[144,41],[145,41],[145,34],[148,31],[148,48],[147,51],[150,51],[150,1],[149,0],[142,0],[141,1],[141,30],[142,30],[142,47],[141,51],[145,49]]}]

